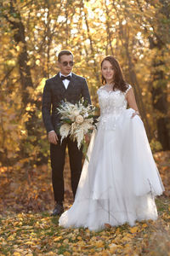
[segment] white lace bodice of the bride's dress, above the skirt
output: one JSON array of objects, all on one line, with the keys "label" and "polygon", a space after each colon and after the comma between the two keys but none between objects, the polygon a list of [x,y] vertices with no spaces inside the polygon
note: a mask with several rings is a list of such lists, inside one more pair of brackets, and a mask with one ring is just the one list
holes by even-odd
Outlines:
[{"label": "white lace bodice of the bride's dress, above the skirt", "polygon": [[116,119],[121,115],[122,111],[127,108],[127,91],[132,88],[128,84],[128,88],[125,92],[121,90],[105,90],[105,86],[102,86],[97,91],[99,96],[100,118],[99,124],[104,129],[115,130]]}]

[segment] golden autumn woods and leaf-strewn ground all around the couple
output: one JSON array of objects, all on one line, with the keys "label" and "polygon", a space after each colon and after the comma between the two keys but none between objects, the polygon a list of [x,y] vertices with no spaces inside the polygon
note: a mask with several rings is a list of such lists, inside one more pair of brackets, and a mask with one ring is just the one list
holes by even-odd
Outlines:
[{"label": "golden autumn woods and leaf-strewn ground all around the couple", "polygon": [[[0,20],[1,255],[169,256],[169,0],[0,0]],[[59,71],[61,49],[72,51],[73,72],[87,79],[97,107],[105,55],[116,57],[132,84],[166,189],[156,201],[156,224],[125,225],[94,236],[87,230],[59,230],[57,220],[44,213],[53,208],[54,198],[42,90]],[[65,208],[71,203],[67,155]]]}]

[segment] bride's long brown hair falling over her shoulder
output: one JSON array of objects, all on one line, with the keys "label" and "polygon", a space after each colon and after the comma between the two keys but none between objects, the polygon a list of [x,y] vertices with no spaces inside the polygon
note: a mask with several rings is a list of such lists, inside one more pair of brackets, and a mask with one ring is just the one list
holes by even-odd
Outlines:
[{"label": "bride's long brown hair falling over her shoulder", "polygon": [[[103,59],[103,61],[101,61],[101,68],[102,68],[104,61],[110,61],[111,66],[114,69],[113,90],[118,89],[118,90],[122,90],[123,92],[126,91],[128,86],[123,77],[122,69],[119,65],[119,62],[116,61],[116,58],[114,58],[113,56],[106,56],[105,59]],[[106,80],[103,75],[102,75],[101,79],[102,79],[102,84],[106,84]]]}]

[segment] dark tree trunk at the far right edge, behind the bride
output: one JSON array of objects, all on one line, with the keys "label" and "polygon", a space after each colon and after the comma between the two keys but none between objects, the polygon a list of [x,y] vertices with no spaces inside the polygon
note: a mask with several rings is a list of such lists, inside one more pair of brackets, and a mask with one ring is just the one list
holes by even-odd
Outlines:
[{"label": "dark tree trunk at the far right edge, behind the bride", "polygon": [[[170,19],[169,13],[169,3],[168,1],[160,0],[161,15],[164,15],[162,20]],[[153,3],[154,4],[154,3]],[[163,20],[163,21],[164,21]],[[157,49],[156,55],[152,61],[153,70],[152,80],[150,82],[151,92],[152,92],[152,104],[153,108],[156,109],[156,125],[157,125],[157,139],[161,143],[163,150],[170,150],[170,117],[168,117],[168,102],[167,102],[167,84],[165,71],[162,67],[165,66],[164,61],[157,60],[157,54],[160,55],[163,60],[164,52],[168,51],[167,44],[169,37],[167,37],[166,32],[169,32],[169,26],[165,26],[165,23],[160,21],[158,28],[155,28],[155,24],[152,24],[150,20],[150,26],[154,28],[154,34],[148,37],[150,43],[150,50]],[[162,22],[162,23],[161,23]],[[167,23],[169,24],[169,23]]]}]

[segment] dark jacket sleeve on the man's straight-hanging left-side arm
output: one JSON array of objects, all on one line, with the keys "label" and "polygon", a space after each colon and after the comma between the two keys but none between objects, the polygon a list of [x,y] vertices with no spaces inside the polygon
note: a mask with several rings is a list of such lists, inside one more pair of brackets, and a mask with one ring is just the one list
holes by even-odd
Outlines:
[{"label": "dark jacket sleeve on the man's straight-hanging left-side arm", "polygon": [[42,95],[42,119],[47,132],[54,131],[54,126],[51,122],[51,115],[50,115],[51,103],[52,103],[51,99],[52,99],[51,90],[47,80],[44,86],[43,95]]}]

